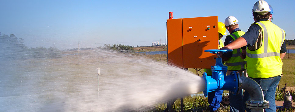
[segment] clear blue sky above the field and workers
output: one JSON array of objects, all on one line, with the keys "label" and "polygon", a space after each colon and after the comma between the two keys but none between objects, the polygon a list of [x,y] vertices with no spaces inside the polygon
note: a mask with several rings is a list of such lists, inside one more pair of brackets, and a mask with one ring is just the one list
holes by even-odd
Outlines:
[{"label": "clear blue sky above the field and workers", "polygon": [[[257,1],[1,0],[0,32],[23,38],[28,47],[150,46],[165,42],[169,12],[174,19],[218,16],[220,22],[233,15],[247,31]],[[294,0],[266,2],[274,10],[272,22],[286,31],[286,39],[294,39]]]}]

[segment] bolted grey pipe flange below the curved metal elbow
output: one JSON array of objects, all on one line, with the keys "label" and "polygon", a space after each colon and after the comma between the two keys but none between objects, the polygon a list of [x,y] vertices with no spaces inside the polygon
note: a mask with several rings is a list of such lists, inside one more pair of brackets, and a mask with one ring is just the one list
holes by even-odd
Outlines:
[{"label": "bolted grey pipe flange below the curved metal elbow", "polygon": [[250,109],[265,109],[269,107],[269,102],[266,100],[249,100],[246,102],[246,107]]}]

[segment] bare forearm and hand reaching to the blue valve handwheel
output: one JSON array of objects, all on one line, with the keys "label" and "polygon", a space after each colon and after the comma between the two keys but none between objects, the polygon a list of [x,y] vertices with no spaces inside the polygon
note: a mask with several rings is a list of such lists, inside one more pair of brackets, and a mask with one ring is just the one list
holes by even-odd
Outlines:
[{"label": "bare forearm and hand reaching to the blue valve handwheel", "polygon": [[247,42],[243,37],[240,37],[238,39],[236,39],[235,41],[229,43],[228,45],[220,48],[220,50],[222,49],[240,49],[243,46],[246,46]]}]

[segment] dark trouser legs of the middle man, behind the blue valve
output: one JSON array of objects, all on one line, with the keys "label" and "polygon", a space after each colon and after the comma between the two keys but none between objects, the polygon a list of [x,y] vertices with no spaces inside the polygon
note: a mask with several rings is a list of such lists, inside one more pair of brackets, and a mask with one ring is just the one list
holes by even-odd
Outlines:
[{"label": "dark trouser legs of the middle man, behind the blue valve", "polygon": [[230,112],[245,112],[242,106],[243,100],[243,91],[240,90],[239,94],[233,95],[229,92],[229,103],[230,103]]}]

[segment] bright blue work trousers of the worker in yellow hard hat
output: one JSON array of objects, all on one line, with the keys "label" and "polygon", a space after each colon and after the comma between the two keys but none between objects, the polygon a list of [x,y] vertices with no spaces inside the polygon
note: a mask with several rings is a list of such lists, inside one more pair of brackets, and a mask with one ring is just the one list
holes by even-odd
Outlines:
[{"label": "bright blue work trousers of the worker in yellow hard hat", "polygon": [[220,107],[223,90],[212,91],[208,93],[208,103],[210,111],[215,111]]}]

